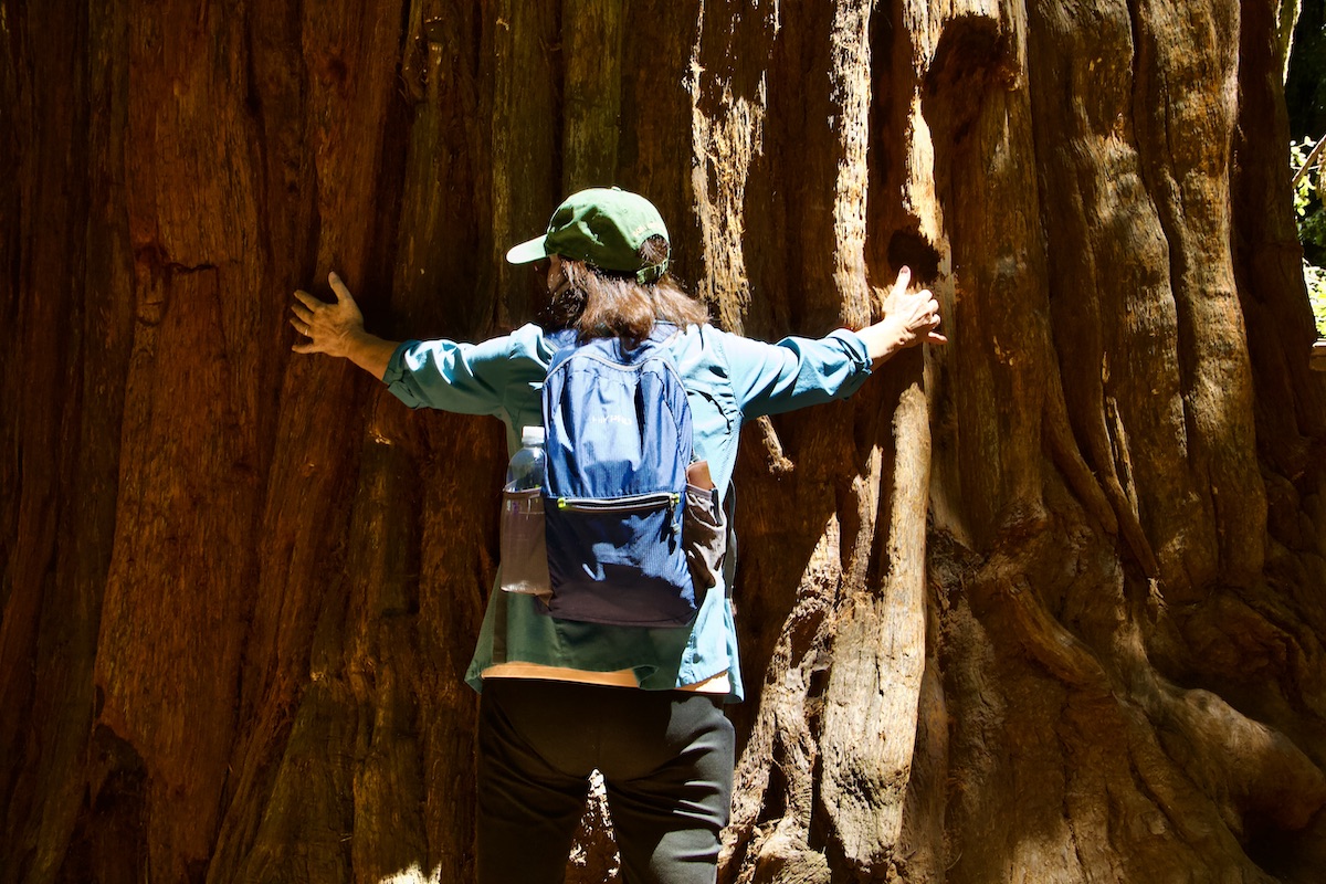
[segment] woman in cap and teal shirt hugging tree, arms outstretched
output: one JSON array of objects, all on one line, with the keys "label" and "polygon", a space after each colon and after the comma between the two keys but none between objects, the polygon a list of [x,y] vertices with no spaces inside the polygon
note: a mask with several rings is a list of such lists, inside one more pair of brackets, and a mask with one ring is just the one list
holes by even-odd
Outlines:
[{"label": "woman in cap and teal shirt hugging tree, arms outstretched", "polygon": [[[558,350],[591,338],[627,347],[663,339],[686,388],[695,456],[727,501],[745,421],[849,396],[873,363],[944,342],[939,305],[930,292],[907,292],[906,268],[886,317],[859,331],[777,345],[720,331],[667,273],[668,250],[648,200],[581,191],[545,235],[507,254],[548,261],[538,325],[479,345],[383,341],[363,330],[332,274],[335,304],[296,292],[290,322],[308,339],[294,351],[347,358],[411,407],[497,416],[514,451],[521,428],[542,423],[540,387]],[[481,881],[561,881],[594,769],[627,881],[713,881],[735,762],[721,706],[743,697],[725,570],[683,627],[564,620],[533,596],[489,595],[467,673],[481,693]]]}]

